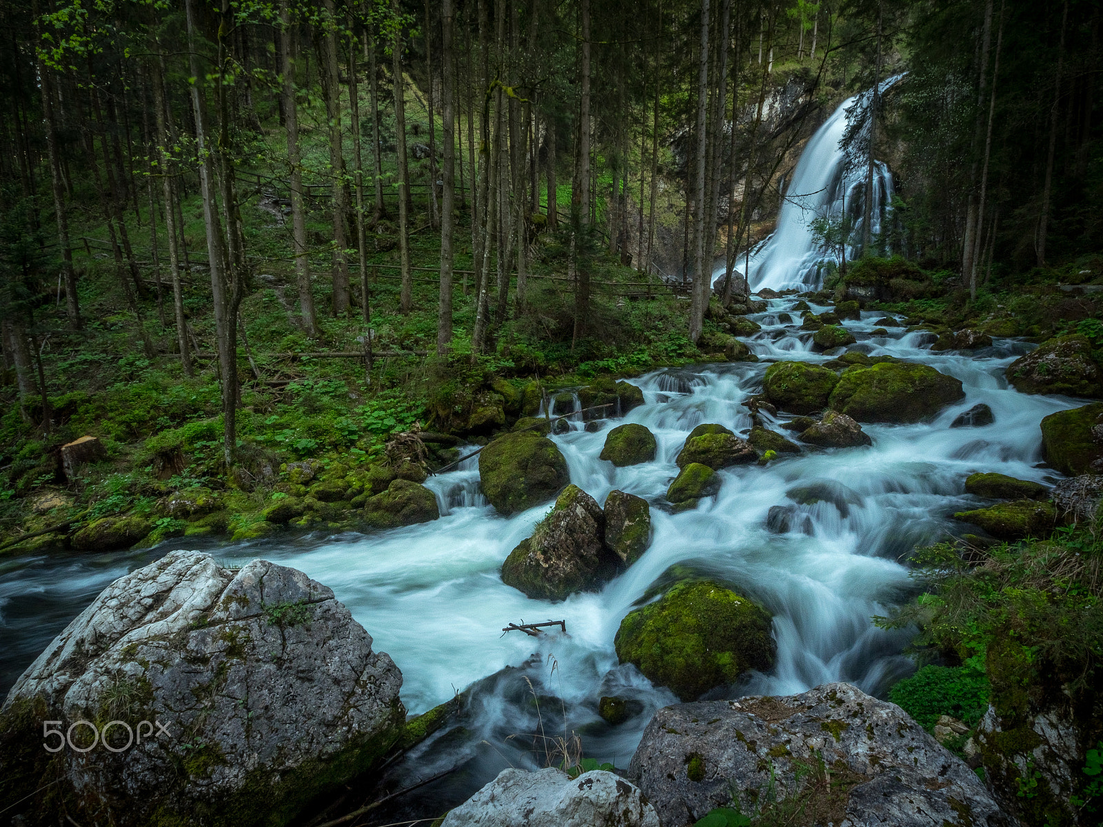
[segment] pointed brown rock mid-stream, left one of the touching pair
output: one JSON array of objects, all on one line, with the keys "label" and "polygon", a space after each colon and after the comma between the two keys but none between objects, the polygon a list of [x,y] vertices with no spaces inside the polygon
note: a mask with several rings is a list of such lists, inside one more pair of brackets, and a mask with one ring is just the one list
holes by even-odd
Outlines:
[{"label": "pointed brown rock mid-stream, left one of the touching pair", "polygon": [[502,565],[502,582],[538,600],[565,600],[597,589],[617,572],[606,547],[606,517],[593,497],[568,485]]}]

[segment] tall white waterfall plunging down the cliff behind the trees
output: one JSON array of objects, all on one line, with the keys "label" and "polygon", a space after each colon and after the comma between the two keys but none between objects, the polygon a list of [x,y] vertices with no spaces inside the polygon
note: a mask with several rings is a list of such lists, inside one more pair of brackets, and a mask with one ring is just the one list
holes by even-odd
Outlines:
[{"label": "tall white waterfall plunging down the cliff behind the trees", "polygon": [[[890,77],[881,85],[881,93],[899,79]],[[838,219],[848,215],[853,239],[861,237],[865,212],[865,163],[848,163],[847,150],[842,146],[847,130],[861,133],[868,130],[869,93],[844,100],[821,126],[801,153],[792,181],[785,187],[774,232],[740,256],[735,270],[747,277],[752,290],[771,288],[815,289],[822,281],[822,265],[834,260],[832,251],[816,243],[811,228],[816,218]],[[874,203],[870,212],[872,235],[880,232],[885,205],[892,197],[892,175],[881,161],[874,162]],[[853,240],[852,239],[852,240]],[[848,256],[858,253],[854,246]],[[714,282],[725,276],[724,266],[713,273]]]}]

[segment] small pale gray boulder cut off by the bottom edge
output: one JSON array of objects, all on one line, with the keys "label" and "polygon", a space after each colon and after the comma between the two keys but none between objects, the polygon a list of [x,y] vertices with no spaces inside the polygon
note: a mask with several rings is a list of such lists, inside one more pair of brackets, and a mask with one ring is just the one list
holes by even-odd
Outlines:
[{"label": "small pale gray boulder cut off by the bottom edge", "polygon": [[503,770],[451,810],[441,827],[660,827],[640,791],[593,770],[571,781],[563,770]]}]

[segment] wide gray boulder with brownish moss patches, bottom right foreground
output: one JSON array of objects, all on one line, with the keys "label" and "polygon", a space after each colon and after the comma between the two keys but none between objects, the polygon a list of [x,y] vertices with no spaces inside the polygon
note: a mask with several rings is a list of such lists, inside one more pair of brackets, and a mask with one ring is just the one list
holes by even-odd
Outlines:
[{"label": "wide gray boulder with brownish moss patches, bottom right foreground", "polygon": [[732,795],[745,813],[773,796],[775,806],[796,806],[815,824],[1014,824],[965,762],[900,707],[849,684],[661,709],[630,775],[663,827],[730,807]]}]

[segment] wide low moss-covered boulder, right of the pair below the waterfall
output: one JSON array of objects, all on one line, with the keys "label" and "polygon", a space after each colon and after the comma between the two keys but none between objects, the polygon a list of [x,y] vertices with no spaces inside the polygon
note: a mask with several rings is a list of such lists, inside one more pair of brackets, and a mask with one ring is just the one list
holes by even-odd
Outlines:
[{"label": "wide low moss-covered boulder, right of the pair below the waterfall", "polygon": [[827,404],[859,422],[918,422],[964,397],[961,379],[928,365],[885,362],[844,370]]}]

